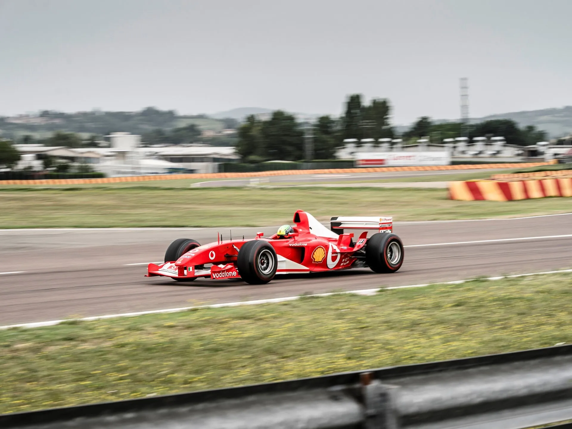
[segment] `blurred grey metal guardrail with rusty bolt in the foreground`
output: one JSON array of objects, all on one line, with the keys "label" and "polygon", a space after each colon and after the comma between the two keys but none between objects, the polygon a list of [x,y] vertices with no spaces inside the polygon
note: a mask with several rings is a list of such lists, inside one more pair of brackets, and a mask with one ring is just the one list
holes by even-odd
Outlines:
[{"label": "blurred grey metal guardrail with rusty bolt in the foreground", "polygon": [[7,414],[0,427],[522,429],[569,419],[572,345],[563,345]]}]

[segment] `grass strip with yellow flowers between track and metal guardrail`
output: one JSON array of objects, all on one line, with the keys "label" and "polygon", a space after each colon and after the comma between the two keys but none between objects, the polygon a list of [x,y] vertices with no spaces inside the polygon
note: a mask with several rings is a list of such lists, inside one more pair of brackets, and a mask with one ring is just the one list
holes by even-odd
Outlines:
[{"label": "grass strip with yellow flowers between track and metal guardrail", "polygon": [[0,412],[572,342],[572,276],[0,331]]}]

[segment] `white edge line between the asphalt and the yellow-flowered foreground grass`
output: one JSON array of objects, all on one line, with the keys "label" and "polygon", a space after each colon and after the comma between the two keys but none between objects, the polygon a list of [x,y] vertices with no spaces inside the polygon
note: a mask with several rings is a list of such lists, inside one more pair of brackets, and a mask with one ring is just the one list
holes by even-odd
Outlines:
[{"label": "white edge line between the asphalt and the yellow-flowered foreground grass", "polygon": [[[526,274],[515,274],[510,276],[497,276],[497,277],[486,277],[484,280],[501,280],[501,279],[514,279],[516,277],[528,277],[528,276],[538,276],[543,274],[557,274],[557,273],[570,273],[572,269],[559,269],[557,271],[543,271],[538,273],[526,273]],[[313,295],[304,296],[285,296],[281,298],[270,298],[270,299],[259,299],[253,301],[240,301],[235,303],[221,303],[221,304],[210,304],[210,305],[197,305],[195,307],[178,307],[178,308],[167,308],[162,310],[150,310],[150,311],[138,311],[132,313],[118,313],[104,316],[90,316],[90,317],[80,317],[78,319],[61,319],[61,320],[49,320],[43,322],[33,322],[33,323],[19,323],[15,325],[5,325],[0,326],[0,329],[9,328],[39,328],[43,326],[53,326],[66,321],[89,321],[89,320],[102,320],[102,319],[114,319],[116,317],[132,317],[132,316],[142,316],[146,314],[165,314],[165,313],[177,313],[181,311],[187,311],[192,309],[200,308],[221,308],[221,307],[238,307],[239,305],[256,305],[256,304],[271,304],[271,303],[284,303],[286,301],[295,301],[301,297],[312,297],[312,296],[332,296],[340,295],[341,293],[351,293],[353,295],[375,295],[380,289],[406,289],[406,288],[422,288],[431,285],[447,285],[447,284],[462,284],[467,281],[474,281],[478,279],[469,280],[455,280],[455,281],[444,281],[441,283],[423,283],[423,284],[411,284],[406,286],[392,286],[387,288],[376,288],[376,289],[361,289],[358,291],[343,291],[343,292],[327,292],[327,293],[315,293]]]}]

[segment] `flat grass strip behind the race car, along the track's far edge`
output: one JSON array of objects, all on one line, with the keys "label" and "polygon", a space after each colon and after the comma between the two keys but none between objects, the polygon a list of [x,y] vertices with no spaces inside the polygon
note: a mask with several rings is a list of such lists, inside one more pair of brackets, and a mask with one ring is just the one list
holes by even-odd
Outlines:
[{"label": "flat grass strip behind the race car, along the track's far edge", "polygon": [[256,227],[304,209],[395,220],[478,219],[570,212],[570,198],[451,201],[446,189],[129,188],[0,189],[0,228]]}]

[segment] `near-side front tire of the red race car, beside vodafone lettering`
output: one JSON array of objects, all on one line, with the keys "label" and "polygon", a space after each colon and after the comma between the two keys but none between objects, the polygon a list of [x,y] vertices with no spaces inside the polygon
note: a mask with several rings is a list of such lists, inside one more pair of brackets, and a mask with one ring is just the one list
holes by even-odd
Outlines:
[{"label": "near-side front tire of the red race car, beside vodafone lettering", "polygon": [[240,248],[236,259],[240,277],[249,284],[265,284],[276,275],[278,257],[268,241],[251,240]]}]

